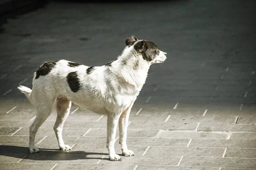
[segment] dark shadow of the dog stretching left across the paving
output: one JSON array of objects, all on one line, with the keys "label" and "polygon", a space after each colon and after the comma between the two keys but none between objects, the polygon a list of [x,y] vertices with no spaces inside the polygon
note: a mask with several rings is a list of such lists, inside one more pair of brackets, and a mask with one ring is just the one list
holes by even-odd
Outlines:
[{"label": "dark shadow of the dog stretching left across the paving", "polygon": [[57,149],[39,148],[39,153],[29,153],[28,147],[0,145],[0,156],[34,161],[72,161],[79,159],[108,159],[108,153],[88,153],[84,151],[60,151]]}]

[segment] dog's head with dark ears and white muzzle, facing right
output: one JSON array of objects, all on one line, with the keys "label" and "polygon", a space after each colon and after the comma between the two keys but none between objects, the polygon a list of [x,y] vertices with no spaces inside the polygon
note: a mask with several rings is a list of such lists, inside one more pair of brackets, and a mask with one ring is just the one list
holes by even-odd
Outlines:
[{"label": "dog's head with dark ears and white muzzle, facing right", "polygon": [[128,47],[134,46],[134,49],[149,64],[161,63],[166,60],[167,53],[160,51],[153,42],[148,40],[138,40],[135,36],[125,40]]}]

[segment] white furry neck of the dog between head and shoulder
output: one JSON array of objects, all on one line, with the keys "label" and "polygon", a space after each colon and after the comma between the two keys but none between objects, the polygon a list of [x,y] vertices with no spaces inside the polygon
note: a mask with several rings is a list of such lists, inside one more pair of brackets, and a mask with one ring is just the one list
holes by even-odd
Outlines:
[{"label": "white furry neck of the dog between head and shoulder", "polygon": [[133,47],[127,47],[122,54],[112,62],[111,71],[135,88],[142,88],[148,76],[150,64],[137,53]]}]

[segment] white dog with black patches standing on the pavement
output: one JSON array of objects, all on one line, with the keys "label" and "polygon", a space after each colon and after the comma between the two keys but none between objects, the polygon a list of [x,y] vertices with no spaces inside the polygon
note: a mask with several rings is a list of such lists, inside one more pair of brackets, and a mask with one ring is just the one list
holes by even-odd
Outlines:
[{"label": "white dog with black patches standing on the pavement", "polygon": [[135,36],[125,40],[122,54],[106,65],[89,67],[64,59],[44,62],[34,73],[32,90],[20,85],[18,89],[35,106],[37,115],[29,128],[29,152],[39,152],[35,135],[52,110],[57,118],[53,127],[60,150],[71,150],[64,144],[62,128],[70,113],[71,102],[107,119],[107,148],[111,161],[122,161],[115,153],[114,143],[119,124],[119,144],[124,156],[134,156],[126,145],[128,118],[148,76],[150,65],[162,63],[167,53],[153,42],[138,40]]}]

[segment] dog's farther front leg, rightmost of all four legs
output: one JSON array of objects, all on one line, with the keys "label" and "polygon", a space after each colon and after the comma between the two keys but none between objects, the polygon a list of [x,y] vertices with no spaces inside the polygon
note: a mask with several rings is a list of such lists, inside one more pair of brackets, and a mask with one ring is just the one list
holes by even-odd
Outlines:
[{"label": "dog's farther front leg, rightmost of all four legs", "polygon": [[119,144],[121,144],[122,154],[124,156],[134,156],[134,152],[128,150],[126,144],[128,119],[133,103],[121,114],[119,118]]}]

